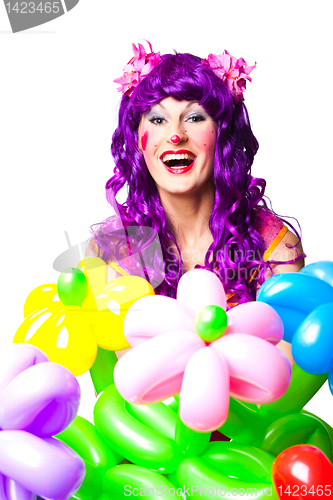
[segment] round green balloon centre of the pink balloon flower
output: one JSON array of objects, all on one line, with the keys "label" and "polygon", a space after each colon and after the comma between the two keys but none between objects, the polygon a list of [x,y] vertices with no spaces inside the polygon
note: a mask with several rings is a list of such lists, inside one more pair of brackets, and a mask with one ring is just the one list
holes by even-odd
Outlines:
[{"label": "round green balloon centre of the pink balloon flower", "polygon": [[205,342],[220,338],[227,329],[228,316],[220,306],[206,306],[195,317],[195,330]]}]

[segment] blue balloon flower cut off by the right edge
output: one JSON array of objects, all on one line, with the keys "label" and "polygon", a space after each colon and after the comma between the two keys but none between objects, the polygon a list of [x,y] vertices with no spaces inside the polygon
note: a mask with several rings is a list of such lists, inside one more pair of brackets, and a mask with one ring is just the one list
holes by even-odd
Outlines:
[{"label": "blue balloon flower cut off by the right edge", "polygon": [[314,375],[333,370],[332,285],[333,262],[316,262],[269,278],[257,296],[278,312],[296,363]]}]

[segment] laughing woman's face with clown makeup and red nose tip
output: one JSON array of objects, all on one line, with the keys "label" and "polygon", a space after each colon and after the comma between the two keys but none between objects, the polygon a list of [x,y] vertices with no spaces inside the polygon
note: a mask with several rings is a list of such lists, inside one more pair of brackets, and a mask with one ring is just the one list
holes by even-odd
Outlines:
[{"label": "laughing woman's face with clown makeup and red nose tip", "polygon": [[211,183],[217,124],[196,101],[163,99],[142,116],[139,148],[160,195]]}]

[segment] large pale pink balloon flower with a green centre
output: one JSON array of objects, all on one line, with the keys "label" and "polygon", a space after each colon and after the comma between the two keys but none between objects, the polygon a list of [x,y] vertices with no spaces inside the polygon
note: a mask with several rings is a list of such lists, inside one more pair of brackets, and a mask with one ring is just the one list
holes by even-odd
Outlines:
[{"label": "large pale pink balloon flower with a green centre", "polygon": [[139,299],[124,321],[134,348],[114,372],[124,399],[149,404],[180,392],[182,421],[208,432],[226,420],[229,395],[256,404],[281,397],[291,367],[274,345],[283,336],[279,316],[259,302],[225,310],[220,280],[203,269],[182,276],[177,299]]}]

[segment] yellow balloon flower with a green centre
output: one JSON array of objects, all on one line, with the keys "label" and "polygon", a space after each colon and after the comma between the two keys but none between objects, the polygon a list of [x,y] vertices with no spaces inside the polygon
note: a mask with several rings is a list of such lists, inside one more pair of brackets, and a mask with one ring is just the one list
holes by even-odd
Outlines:
[{"label": "yellow balloon flower with a green centre", "polygon": [[13,340],[40,348],[76,376],[91,368],[97,346],[112,351],[129,347],[125,314],[136,299],[154,293],[137,276],[106,283],[107,265],[97,257],[87,257],[79,266],[61,273],[58,285],[42,285],[30,293],[25,320]]}]

